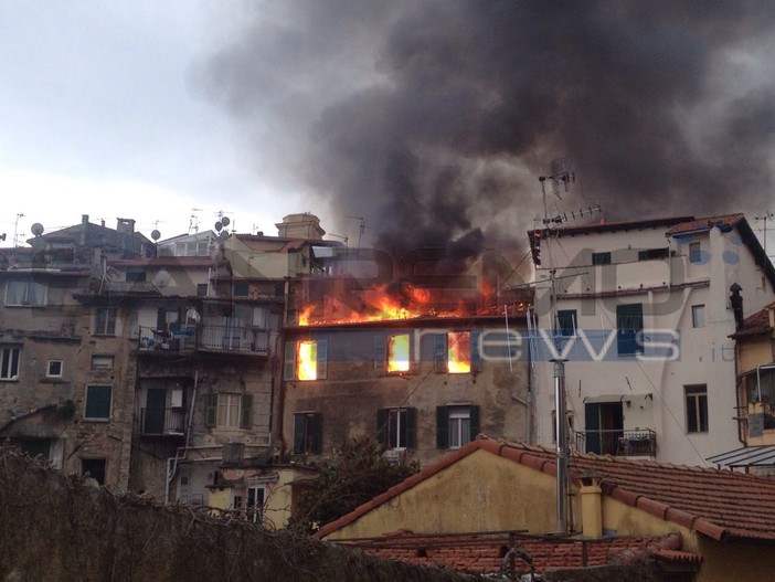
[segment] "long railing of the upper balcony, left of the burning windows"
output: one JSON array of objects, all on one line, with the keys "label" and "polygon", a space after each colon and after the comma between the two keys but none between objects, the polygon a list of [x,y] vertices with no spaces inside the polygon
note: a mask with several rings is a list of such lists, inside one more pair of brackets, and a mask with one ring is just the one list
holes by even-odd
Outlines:
[{"label": "long railing of the upper balcony, left of the burning windows", "polygon": [[173,331],[140,326],[140,351],[172,352],[216,351],[268,356],[269,330],[255,327],[200,324]]}]

